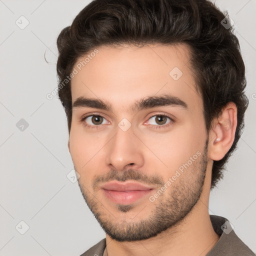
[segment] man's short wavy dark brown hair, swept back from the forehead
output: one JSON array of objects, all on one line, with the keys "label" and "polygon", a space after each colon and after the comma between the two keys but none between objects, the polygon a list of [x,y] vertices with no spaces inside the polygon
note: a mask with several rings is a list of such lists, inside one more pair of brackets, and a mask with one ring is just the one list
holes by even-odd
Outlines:
[{"label": "man's short wavy dark brown hair, swept back from the forehead", "polygon": [[[248,105],[244,63],[237,37],[225,14],[209,0],[93,0],[62,29],[57,38],[58,96],[65,109],[70,133],[71,84],[64,79],[78,57],[101,45],[186,43],[203,99],[206,130],[227,102],[237,107],[237,127],[231,148],[213,161],[211,188],[222,178],[222,170],[244,127]],[[62,85],[61,85],[62,83]]]}]

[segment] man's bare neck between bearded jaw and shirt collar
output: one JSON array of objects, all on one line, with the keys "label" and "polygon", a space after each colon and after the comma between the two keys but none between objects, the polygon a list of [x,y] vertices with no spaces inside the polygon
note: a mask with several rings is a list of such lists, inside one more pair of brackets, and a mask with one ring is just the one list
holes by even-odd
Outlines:
[{"label": "man's bare neck between bearded jaw and shirt collar", "polygon": [[[192,214],[191,214],[192,215]],[[176,226],[149,239],[118,242],[106,235],[108,256],[172,255],[205,256],[217,242],[209,214],[196,214],[196,219],[187,216]]]}]

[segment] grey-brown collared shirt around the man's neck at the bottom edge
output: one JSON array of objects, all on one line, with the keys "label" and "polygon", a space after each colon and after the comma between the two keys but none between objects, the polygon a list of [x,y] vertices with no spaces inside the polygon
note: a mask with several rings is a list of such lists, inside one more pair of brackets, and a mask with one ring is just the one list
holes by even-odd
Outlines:
[{"label": "grey-brown collared shirt around the man's neck at the bottom edge", "polygon": [[[255,256],[255,253],[235,234],[226,218],[210,215],[210,221],[214,231],[220,237],[206,256]],[[104,238],[80,256],[103,256],[105,248],[106,239]]]}]

